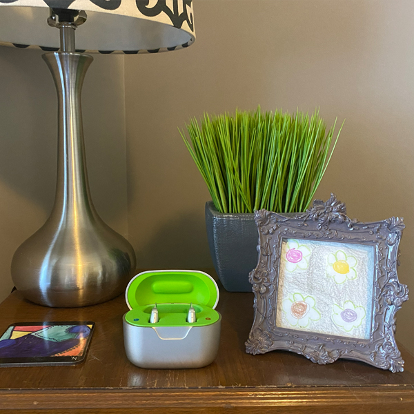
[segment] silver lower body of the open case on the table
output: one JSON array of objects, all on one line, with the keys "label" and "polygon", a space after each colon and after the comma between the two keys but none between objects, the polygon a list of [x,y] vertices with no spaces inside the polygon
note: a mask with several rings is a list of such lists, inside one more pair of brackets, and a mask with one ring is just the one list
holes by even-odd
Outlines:
[{"label": "silver lower body of the open case on the table", "polygon": [[124,315],[126,356],[141,368],[201,368],[219,351],[221,315],[207,326],[134,326]]}]

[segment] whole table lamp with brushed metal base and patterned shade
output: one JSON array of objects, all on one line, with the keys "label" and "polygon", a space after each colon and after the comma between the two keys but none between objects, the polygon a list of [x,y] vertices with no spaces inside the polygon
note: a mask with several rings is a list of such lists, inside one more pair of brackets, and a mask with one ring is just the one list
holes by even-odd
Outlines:
[{"label": "whole table lamp with brushed metal base and patterned shade", "polygon": [[85,52],[157,53],[194,41],[192,0],[0,0],[0,45],[48,51],[43,59],[58,96],[55,204],[12,259],[13,282],[26,299],[98,304],[122,293],[135,272],[132,246],[102,221],[90,197],[81,88],[93,59]]}]

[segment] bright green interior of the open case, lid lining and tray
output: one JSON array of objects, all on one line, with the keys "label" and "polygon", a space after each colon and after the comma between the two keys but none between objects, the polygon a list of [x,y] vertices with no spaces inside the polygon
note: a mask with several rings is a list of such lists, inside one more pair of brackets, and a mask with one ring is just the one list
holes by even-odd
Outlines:
[{"label": "bright green interior of the open case, lid lining and tray", "polygon": [[[146,272],[128,285],[127,300],[131,311],[128,324],[135,326],[206,326],[219,320],[213,309],[217,304],[217,285],[208,275],[191,270]],[[159,322],[150,324],[150,313],[157,304]],[[197,321],[186,322],[193,304]]]}]

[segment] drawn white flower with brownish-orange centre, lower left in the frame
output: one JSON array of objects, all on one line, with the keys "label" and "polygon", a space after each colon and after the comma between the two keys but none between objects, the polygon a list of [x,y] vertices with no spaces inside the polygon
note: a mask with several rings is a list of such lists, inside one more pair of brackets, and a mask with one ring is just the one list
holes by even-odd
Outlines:
[{"label": "drawn white flower with brownish-orange centre, lower left in the frame", "polygon": [[294,293],[287,299],[284,299],[282,309],[291,326],[306,328],[309,321],[317,321],[321,318],[321,314],[315,308],[315,304],[315,299],[312,296]]}]

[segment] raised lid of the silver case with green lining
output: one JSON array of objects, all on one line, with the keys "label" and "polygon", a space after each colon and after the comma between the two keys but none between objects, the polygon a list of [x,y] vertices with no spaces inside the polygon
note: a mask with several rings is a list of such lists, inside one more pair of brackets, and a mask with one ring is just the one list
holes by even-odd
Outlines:
[{"label": "raised lid of the silver case with green lining", "polygon": [[213,277],[199,270],[149,270],[131,279],[125,298],[130,309],[167,303],[193,303],[215,309],[219,287]]}]

